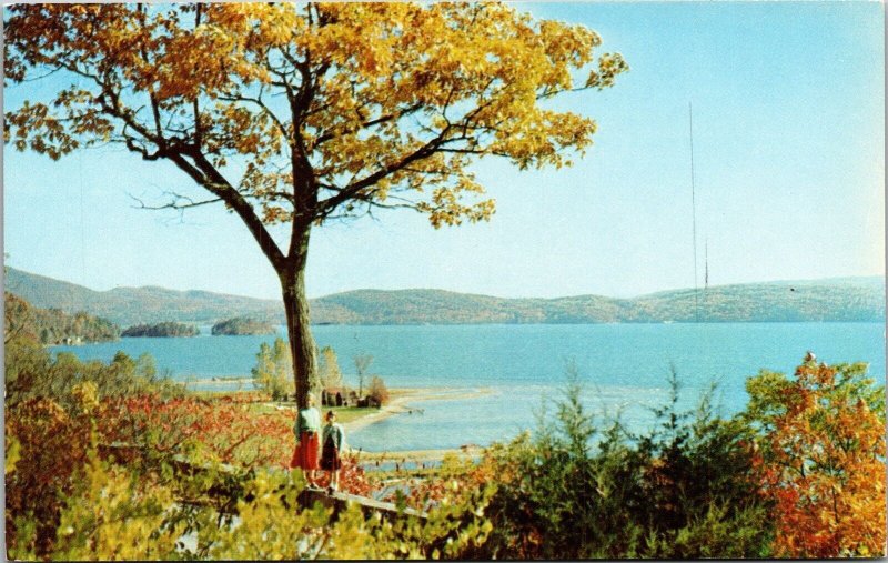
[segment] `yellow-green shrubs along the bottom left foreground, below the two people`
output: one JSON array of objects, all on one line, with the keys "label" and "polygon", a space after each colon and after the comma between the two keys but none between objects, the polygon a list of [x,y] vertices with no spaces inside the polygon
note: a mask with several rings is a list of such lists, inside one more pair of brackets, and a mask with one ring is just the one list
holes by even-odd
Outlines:
[{"label": "yellow-green shrubs along the bottom left foreground, below the two people", "polygon": [[[351,504],[335,516],[299,503],[302,472],[258,469],[236,475],[233,502],[218,495],[205,473],[173,475],[103,461],[94,449],[61,500],[53,541],[40,552],[13,546],[19,559],[61,560],[297,560],[463,559],[484,543],[491,487],[453,489],[426,517],[365,515]],[[202,496],[189,496],[202,490]],[[224,493],[224,492],[223,492]],[[26,527],[26,526],[22,526]]]}]

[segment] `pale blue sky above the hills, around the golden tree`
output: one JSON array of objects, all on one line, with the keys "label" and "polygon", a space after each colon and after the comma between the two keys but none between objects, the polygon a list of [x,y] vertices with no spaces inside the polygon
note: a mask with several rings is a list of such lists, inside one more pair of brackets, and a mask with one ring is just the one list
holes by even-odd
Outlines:
[{"label": "pale blue sky above the hills, around the golden tree", "polygon": [[[490,222],[432,229],[411,211],[312,234],[310,296],[435,288],[497,296],[633,296],[704,283],[885,273],[885,47],[879,2],[518,3],[585,24],[630,71],[559,109],[598,122],[571,169],[475,171]],[[51,81],[4,90],[4,109]],[[690,127],[696,201],[693,239]],[[52,162],[3,151],[7,264],[94,290],[161,285],[278,299],[221,207],[134,208],[186,190],[121,149]],[[193,192],[198,193],[198,192]]]}]

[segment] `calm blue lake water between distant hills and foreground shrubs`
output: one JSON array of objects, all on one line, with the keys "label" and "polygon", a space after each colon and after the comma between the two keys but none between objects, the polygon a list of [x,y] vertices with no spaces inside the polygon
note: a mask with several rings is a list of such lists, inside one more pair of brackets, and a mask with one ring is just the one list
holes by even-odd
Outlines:
[{"label": "calm blue lake water between distant hills and foreground shrubs", "polygon": [[[346,383],[355,386],[352,358],[371,354],[370,372],[391,388],[480,391],[473,398],[414,402],[422,412],[392,416],[347,438],[369,451],[485,445],[512,438],[535,424],[544,400],[558,396],[569,362],[585,383],[589,409],[619,412],[636,429],[648,425],[649,408],[667,398],[672,369],[683,386],[683,404],[693,404],[715,381],[725,414],[745,405],[747,376],[760,369],[791,372],[807,350],[828,363],[868,362],[870,374],[885,380],[880,323],[324,325],[314,334],[320,346],[336,350]],[[118,350],[133,356],[148,352],[159,370],[186,381],[249,376],[260,343],[273,338],[123,339],[53,350],[104,361]]]}]

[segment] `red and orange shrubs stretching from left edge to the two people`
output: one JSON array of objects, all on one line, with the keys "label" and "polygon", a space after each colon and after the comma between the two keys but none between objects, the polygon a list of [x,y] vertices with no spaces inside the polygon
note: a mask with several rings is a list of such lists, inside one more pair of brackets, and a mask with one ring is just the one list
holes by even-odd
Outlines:
[{"label": "red and orange shrubs stretching from left edge to the two people", "polygon": [[[256,412],[254,403],[235,396],[100,398],[91,382],[72,386],[69,395],[68,408],[49,399],[31,399],[7,412],[7,458],[11,448],[16,458],[7,474],[10,553],[42,557],[61,549],[54,545],[56,531],[64,499],[77,494],[72,492],[79,483],[75,474],[87,464],[90,436],[104,458],[135,474],[170,473],[164,468],[174,456],[184,456],[196,466],[225,464],[226,471],[200,476],[167,476],[168,486],[180,497],[200,499],[214,491],[210,504],[216,509],[242,496],[244,475],[266,468],[282,471],[292,455],[292,413]],[[342,490],[369,494],[370,485],[356,460],[344,456],[343,462]],[[74,550],[70,553],[80,553],[78,550],[85,547],[70,549]]]}]

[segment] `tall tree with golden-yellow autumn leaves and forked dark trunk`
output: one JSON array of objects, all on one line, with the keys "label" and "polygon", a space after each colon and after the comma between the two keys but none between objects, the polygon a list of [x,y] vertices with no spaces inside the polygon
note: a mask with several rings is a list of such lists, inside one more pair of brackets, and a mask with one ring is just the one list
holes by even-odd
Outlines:
[{"label": "tall tree with golden-yellow autumn leaves and forked dark trunk", "polygon": [[546,101],[627,70],[599,44],[504,3],[22,3],[7,79],[71,83],[7,112],[4,140],[52,159],[117,143],[210,194],[144,207],[236,213],[280,279],[304,405],[312,227],[383,208],[435,228],[488,219],[474,160],[562,167],[591,145],[595,121]]}]

